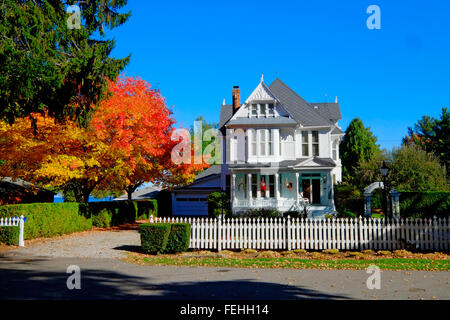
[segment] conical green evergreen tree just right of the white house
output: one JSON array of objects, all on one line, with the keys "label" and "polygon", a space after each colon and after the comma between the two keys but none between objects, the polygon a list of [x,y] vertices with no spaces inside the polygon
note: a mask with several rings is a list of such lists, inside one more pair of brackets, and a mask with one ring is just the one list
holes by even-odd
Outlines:
[{"label": "conical green evergreen tree just right of the white house", "polygon": [[370,128],[364,127],[360,119],[355,118],[350,122],[339,146],[342,177],[345,181],[354,180],[355,172],[361,162],[379,158],[381,151],[376,142],[377,138]]}]

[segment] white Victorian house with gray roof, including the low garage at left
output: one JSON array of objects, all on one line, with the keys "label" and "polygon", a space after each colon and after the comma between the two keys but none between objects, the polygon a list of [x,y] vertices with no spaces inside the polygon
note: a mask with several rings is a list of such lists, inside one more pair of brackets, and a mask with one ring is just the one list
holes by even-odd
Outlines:
[{"label": "white Victorian house with gray roof, including the low garage at left", "polygon": [[207,194],[220,189],[229,192],[235,213],[263,207],[293,211],[307,205],[314,217],[334,210],[333,183],[341,181],[339,143],[344,135],[337,99],[306,102],[279,79],[269,86],[261,79],[242,104],[239,87],[232,96],[233,104],[220,110],[219,130],[226,138],[223,163],[174,190],[173,214],[207,214]]}]

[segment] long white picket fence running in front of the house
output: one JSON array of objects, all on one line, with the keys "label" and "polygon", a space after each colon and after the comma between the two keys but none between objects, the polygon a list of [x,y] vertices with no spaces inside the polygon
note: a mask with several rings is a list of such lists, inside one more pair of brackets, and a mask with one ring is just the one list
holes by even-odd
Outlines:
[{"label": "long white picket fence running in front of the house", "polygon": [[192,249],[450,249],[450,219],[150,218],[189,223]]}]

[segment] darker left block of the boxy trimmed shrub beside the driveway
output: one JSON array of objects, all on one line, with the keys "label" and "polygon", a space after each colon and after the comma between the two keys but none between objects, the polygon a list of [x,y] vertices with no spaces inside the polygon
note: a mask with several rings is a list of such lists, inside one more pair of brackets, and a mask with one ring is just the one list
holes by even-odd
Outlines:
[{"label": "darker left block of the boxy trimmed shrub beside the driveway", "polygon": [[168,223],[144,223],[139,226],[142,251],[159,253],[166,250],[171,226]]}]

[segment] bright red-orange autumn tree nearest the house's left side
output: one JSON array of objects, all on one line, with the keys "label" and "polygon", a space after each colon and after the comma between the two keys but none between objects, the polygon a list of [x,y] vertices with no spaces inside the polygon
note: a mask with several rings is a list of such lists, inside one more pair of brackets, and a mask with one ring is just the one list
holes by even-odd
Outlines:
[{"label": "bright red-orange autumn tree nearest the house's left side", "polygon": [[207,165],[174,165],[170,152],[175,120],[158,90],[140,78],[110,83],[110,97],[93,115],[91,127],[120,159],[120,167],[102,184],[131,194],[143,183],[171,187],[191,182]]}]

